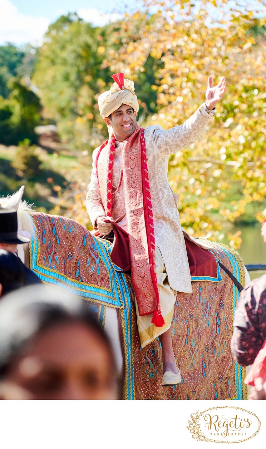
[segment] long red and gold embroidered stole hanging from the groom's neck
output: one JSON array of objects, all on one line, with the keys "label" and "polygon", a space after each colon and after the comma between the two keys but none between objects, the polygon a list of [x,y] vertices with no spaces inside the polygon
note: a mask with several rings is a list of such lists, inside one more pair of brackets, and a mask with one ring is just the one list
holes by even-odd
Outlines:
[{"label": "long red and gold embroidered stole hanging from the groom's neck", "polygon": [[[106,179],[106,216],[112,213],[112,168],[115,152],[115,137],[105,141],[96,158],[108,143],[108,166]],[[155,271],[155,236],[151,204],[144,129],[137,125],[124,146],[122,163],[124,176],[125,209],[129,229],[131,278],[137,299],[139,314],[153,313],[151,322],[163,326]]]}]

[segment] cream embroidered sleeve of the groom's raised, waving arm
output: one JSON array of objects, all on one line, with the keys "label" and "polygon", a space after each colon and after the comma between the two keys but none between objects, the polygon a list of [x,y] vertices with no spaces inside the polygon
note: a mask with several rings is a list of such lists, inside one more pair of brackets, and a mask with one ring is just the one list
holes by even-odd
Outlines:
[{"label": "cream embroidered sleeve of the groom's raised, waving arm", "polygon": [[162,154],[173,154],[194,143],[213,119],[211,115],[203,114],[201,108],[202,106],[182,125],[174,128],[163,130],[161,127],[158,129],[151,126],[150,138],[155,151]]}]

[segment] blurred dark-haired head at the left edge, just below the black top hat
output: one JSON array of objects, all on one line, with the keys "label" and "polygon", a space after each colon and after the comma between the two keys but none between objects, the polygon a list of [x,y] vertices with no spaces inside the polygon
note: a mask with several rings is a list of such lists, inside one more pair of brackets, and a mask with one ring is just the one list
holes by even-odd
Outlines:
[{"label": "blurred dark-haired head at the left edge, just below the black top hat", "polygon": [[0,249],[0,296],[25,285],[27,279],[18,257]]}]

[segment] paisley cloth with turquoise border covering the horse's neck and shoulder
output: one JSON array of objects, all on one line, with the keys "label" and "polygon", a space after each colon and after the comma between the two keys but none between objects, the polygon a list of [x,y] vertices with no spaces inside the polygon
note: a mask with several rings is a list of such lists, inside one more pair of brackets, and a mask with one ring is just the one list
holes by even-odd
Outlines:
[{"label": "paisley cloth with turquoise border covering the horse's neck and shoulder", "polygon": [[94,238],[74,220],[31,213],[35,237],[30,243],[31,269],[44,282],[64,287],[99,304],[123,308],[122,273],[115,271],[109,242]]}]

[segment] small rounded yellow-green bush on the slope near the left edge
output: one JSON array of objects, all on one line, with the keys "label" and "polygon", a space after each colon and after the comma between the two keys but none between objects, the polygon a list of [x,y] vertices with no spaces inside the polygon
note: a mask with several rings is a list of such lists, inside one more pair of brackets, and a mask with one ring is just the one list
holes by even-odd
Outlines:
[{"label": "small rounded yellow-green bush on the slope near the left edge", "polygon": [[29,139],[24,139],[18,144],[18,150],[15,159],[12,162],[19,176],[24,176],[27,180],[31,180],[33,176],[40,173],[41,161],[35,154],[36,146],[31,145]]}]

